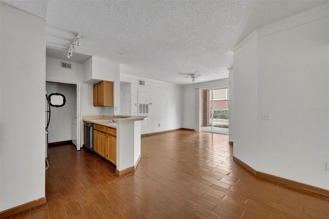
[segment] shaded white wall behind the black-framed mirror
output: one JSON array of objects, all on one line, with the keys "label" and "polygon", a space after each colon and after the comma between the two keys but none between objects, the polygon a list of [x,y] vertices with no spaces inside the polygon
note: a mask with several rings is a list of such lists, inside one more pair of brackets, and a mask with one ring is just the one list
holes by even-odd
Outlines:
[{"label": "shaded white wall behind the black-framed mirror", "polygon": [[77,85],[57,82],[46,82],[48,96],[59,93],[65,96],[66,102],[62,107],[50,106],[50,123],[48,142],[72,140],[72,119],[77,117]]}]

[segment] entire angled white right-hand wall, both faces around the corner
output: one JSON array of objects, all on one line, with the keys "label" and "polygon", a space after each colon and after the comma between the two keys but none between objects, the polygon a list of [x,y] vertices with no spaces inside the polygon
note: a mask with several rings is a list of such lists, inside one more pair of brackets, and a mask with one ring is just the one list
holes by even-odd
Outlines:
[{"label": "entire angled white right-hand wall, both faces around the corner", "polygon": [[[258,171],[327,190],[328,9],[318,7],[255,31],[257,44],[238,45],[233,65],[239,124],[234,156]],[[262,120],[262,113],[270,113],[270,120]]]}]

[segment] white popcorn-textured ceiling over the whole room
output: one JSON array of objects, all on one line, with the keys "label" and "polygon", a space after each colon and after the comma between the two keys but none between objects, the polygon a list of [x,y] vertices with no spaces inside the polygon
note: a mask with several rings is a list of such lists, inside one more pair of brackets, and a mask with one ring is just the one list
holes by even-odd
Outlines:
[{"label": "white popcorn-textured ceiling over the whole room", "polygon": [[[47,56],[97,56],[124,74],[176,84],[228,77],[230,50],[254,29],[329,1],[1,1],[46,19]],[[80,54],[78,54],[80,53]],[[87,56],[85,56],[87,55]]]}]

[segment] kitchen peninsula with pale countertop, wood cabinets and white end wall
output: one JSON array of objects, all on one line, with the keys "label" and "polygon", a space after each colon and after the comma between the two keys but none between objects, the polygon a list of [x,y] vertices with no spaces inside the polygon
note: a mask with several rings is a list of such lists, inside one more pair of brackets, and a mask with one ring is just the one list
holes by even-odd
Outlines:
[{"label": "kitchen peninsula with pale countertop, wood cabinets and white end wall", "polygon": [[[119,117],[119,118],[118,118]],[[103,149],[103,151],[97,152],[104,158],[107,157],[109,161],[116,165],[116,174],[123,175],[134,171],[138,165],[141,158],[140,151],[140,134],[141,126],[140,122],[147,119],[147,116],[83,116],[84,124],[86,122],[91,122],[94,124],[94,132],[99,129],[101,130],[101,135],[106,135],[108,141],[108,147],[115,147],[112,152],[114,153],[114,158],[108,156],[111,151]],[[86,130],[84,132],[86,136]],[[98,136],[97,136],[98,137]],[[115,142],[116,143],[113,143]],[[96,140],[96,143],[98,140]],[[112,144],[111,142],[112,141]],[[95,143],[95,140],[94,140]],[[84,143],[85,144],[85,143]],[[111,144],[111,145],[109,145]],[[98,149],[96,149],[98,150]],[[109,152],[109,153],[108,153]],[[107,156],[106,156],[107,155]]]}]

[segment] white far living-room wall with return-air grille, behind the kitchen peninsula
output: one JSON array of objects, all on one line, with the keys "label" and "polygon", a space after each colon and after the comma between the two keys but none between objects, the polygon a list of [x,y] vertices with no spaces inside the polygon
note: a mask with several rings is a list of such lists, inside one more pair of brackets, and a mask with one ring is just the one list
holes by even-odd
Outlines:
[{"label": "white far living-room wall with return-air grille, behind the kitchen peninsula", "polygon": [[[138,85],[138,80],[145,85]],[[137,113],[137,93],[148,92],[149,118],[141,122],[141,134],[180,129],[182,126],[182,88],[180,85],[121,74],[120,81],[130,82],[132,112]],[[160,127],[158,127],[160,123]]]}]

